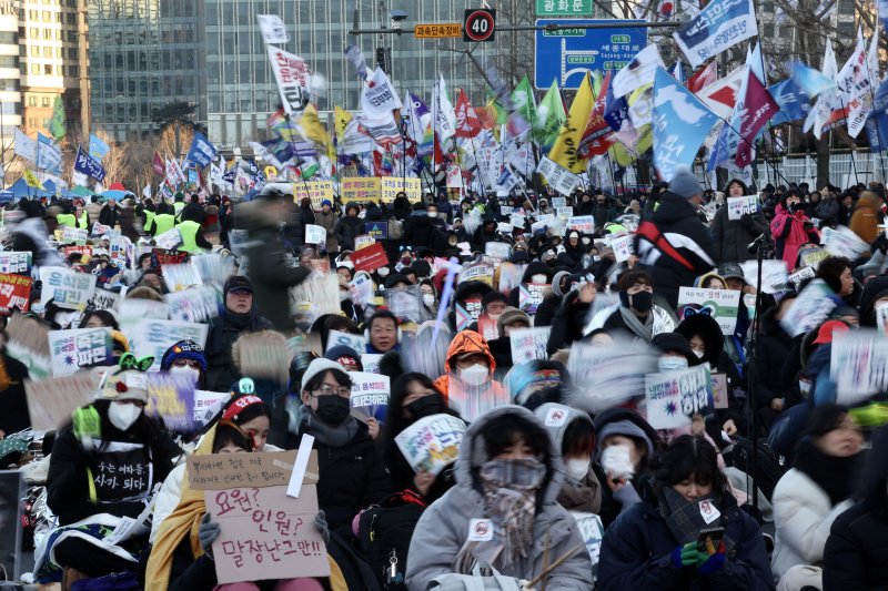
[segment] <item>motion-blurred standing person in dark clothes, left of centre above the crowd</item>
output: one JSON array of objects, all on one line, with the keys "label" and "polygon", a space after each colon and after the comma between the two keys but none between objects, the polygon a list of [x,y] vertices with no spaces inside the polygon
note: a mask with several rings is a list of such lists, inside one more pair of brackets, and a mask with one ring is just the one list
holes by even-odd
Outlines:
[{"label": "motion-blurred standing person in dark clothes, left of centre above the crowd", "polygon": [[255,201],[238,206],[240,227],[246,230],[250,242],[243,246],[249,261],[256,312],[268,318],[278,330],[290,333],[296,325],[290,314],[287,289],[299,285],[311,273],[303,266],[293,266],[287,257],[279,224],[286,221],[290,208],[284,194],[270,188]]}]

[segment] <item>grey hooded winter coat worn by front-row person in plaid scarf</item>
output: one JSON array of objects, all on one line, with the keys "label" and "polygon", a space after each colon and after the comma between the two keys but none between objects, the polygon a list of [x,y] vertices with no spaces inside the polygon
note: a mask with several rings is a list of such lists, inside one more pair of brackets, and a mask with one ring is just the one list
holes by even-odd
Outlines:
[{"label": "grey hooded winter coat worn by front-row person in plaid scarf", "polygon": [[[416,524],[407,558],[407,589],[425,589],[435,577],[454,572],[453,563],[466,542],[471,520],[484,518],[478,468],[491,458],[481,434],[492,419],[513,414],[543,427],[533,412],[517,406],[496,408],[472,424],[460,446],[456,486],[426,509]],[[549,441],[549,449],[547,475],[537,491],[534,542],[527,558],[502,574],[533,579],[578,546],[578,551],[548,573],[546,589],[587,591],[592,587],[592,561],[576,521],[556,501],[564,482],[564,465],[554,441]]]}]

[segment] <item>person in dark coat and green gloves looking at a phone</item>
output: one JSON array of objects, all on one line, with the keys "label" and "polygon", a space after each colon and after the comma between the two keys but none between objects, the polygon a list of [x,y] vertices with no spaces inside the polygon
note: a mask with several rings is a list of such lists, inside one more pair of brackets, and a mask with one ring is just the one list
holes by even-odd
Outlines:
[{"label": "person in dark coat and green gloves looking at a phone", "polygon": [[761,529],[737,507],[713,445],[683,435],[653,468],[642,502],[604,537],[596,589],[773,590]]}]

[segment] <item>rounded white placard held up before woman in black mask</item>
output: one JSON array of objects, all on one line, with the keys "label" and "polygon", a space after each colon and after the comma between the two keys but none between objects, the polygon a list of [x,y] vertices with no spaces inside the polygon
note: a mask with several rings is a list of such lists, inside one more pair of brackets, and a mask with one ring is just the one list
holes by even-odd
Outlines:
[{"label": "rounded white placard held up before woman in black mask", "polygon": [[415,472],[437,476],[460,455],[465,422],[450,415],[424,417],[395,436],[395,444]]}]

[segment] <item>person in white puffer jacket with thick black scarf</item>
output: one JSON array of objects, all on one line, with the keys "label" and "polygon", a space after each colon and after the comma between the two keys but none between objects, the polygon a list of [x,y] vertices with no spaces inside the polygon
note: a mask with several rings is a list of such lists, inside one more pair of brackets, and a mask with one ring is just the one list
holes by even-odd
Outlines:
[{"label": "person in white puffer jacket with thick black scarf", "polygon": [[860,427],[847,409],[824,405],[814,410],[793,468],[774,489],[777,591],[823,589],[824,548],[833,521],[852,505],[862,447]]}]

